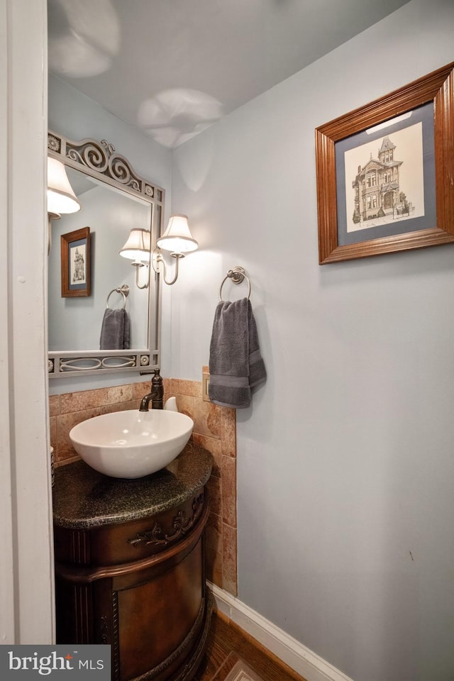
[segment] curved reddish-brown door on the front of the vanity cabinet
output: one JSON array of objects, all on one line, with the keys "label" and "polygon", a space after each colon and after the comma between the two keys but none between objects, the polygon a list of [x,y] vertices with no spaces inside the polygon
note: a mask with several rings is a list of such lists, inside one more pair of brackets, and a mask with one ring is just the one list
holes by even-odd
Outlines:
[{"label": "curved reddish-brown door on the front of the vanity cabinet", "polygon": [[172,678],[204,624],[202,574],[200,538],[175,565],[114,578],[114,679],[134,679],[150,669],[156,679]]}]

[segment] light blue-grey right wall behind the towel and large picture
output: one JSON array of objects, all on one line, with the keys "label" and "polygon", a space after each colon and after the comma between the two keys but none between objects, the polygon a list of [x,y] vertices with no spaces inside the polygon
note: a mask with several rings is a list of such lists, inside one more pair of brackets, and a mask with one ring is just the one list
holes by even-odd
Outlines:
[{"label": "light blue-grey right wall behind the towel and large picture", "polygon": [[237,412],[239,597],[355,681],[453,677],[454,246],[320,267],[314,129],[453,59],[454,3],[413,0],[173,155],[201,248],[172,375],[200,380],[235,265],[268,370]]}]

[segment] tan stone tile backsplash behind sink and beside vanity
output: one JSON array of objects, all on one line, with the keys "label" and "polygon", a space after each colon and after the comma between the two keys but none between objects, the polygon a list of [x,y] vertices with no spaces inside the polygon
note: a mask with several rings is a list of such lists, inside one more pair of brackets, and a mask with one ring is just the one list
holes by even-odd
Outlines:
[{"label": "tan stone tile backsplash behind sink and beside vanity", "polygon": [[[138,409],[150,380],[50,396],[50,444],[55,466],[79,457],[72,448],[72,426],[109,411]],[[164,379],[165,399],[177,398],[178,410],[194,421],[192,439],[214,458],[207,484],[211,512],[206,528],[207,578],[234,596],[236,573],[236,411],[205,402],[202,384],[176,378]]]}]

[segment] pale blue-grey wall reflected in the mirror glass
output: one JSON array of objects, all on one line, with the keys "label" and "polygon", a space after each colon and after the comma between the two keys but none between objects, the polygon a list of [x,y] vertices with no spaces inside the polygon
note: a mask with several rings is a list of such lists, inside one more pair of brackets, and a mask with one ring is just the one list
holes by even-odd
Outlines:
[{"label": "pale blue-grey wall reflected in the mirror glass", "polygon": [[[128,284],[130,289],[126,300],[126,311],[131,321],[130,347],[146,350],[148,289],[135,287],[135,269],[131,267],[131,261],[120,258],[119,251],[132,225],[150,229],[151,206],[141,199],[116,191],[109,184],[94,184],[91,178],[82,175],[79,170],[68,168],[67,175],[82,208],[78,213],[62,215],[60,220],[52,222],[49,350],[99,350],[107,296],[123,284]],[[90,228],[92,295],[89,299],[62,298],[60,237],[82,227]],[[147,275],[147,272],[143,272],[143,275]],[[123,308],[123,304],[121,294],[111,295],[109,308]]]}]

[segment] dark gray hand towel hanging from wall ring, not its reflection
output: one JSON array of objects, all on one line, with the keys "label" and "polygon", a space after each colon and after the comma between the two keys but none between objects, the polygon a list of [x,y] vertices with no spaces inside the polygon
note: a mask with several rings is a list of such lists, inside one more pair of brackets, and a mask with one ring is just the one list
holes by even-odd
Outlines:
[{"label": "dark gray hand towel hanging from wall ring, not its reflection", "polygon": [[216,306],[209,359],[209,398],[214,404],[245,409],[251,388],[266,380],[257,325],[247,298]]}]

